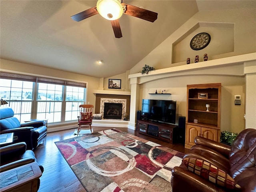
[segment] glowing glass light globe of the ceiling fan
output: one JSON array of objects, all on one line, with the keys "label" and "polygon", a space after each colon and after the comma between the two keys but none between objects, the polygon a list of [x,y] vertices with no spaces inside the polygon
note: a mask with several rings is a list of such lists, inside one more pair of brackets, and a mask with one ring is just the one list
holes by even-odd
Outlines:
[{"label": "glowing glass light globe of the ceiling fan", "polygon": [[119,19],[123,14],[123,7],[118,0],[98,0],[97,10],[107,20]]}]

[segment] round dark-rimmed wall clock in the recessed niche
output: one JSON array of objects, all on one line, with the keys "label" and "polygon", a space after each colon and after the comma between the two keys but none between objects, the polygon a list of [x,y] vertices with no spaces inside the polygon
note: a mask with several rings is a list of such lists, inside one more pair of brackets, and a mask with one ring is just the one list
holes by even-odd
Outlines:
[{"label": "round dark-rimmed wall clock in the recessed niche", "polygon": [[198,33],[190,41],[190,47],[193,50],[201,50],[203,48],[206,48],[206,46],[208,46],[208,44],[210,43],[210,40],[211,40],[210,34],[206,32]]}]

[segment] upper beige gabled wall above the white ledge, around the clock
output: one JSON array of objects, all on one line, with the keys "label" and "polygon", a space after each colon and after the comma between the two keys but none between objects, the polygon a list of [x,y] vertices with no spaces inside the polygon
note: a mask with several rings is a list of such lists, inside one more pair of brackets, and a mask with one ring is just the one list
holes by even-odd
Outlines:
[{"label": "upper beige gabled wall above the white ledge, around the clock", "polygon": [[[184,65],[186,64],[187,57],[190,57],[192,61],[191,63],[194,63],[194,56],[200,55],[200,58],[202,59],[202,55],[204,53],[208,54],[209,60],[213,60],[256,52],[255,12],[255,9],[233,9],[198,12],[186,23],[184,23],[178,30],[166,38],[166,40],[164,40],[164,42],[162,42],[158,47],[150,52],[150,54],[138,62],[138,64],[136,64],[133,68],[131,68],[130,74],[138,73],[145,64],[153,66],[156,69],[162,69],[172,66]],[[202,23],[201,26],[199,23]],[[213,23],[234,23],[234,34],[232,35],[234,36],[234,51],[226,53],[226,50],[222,49],[222,44],[225,44],[226,42],[221,42],[215,33],[216,28],[220,29],[220,24],[216,24],[216,27],[214,27]],[[224,26],[222,26],[222,28],[224,28]],[[230,25],[227,25],[227,27],[230,27]],[[190,48],[191,38],[198,32],[204,32],[206,29],[212,37],[210,44],[203,50],[192,50]],[[224,34],[230,33],[226,32],[228,29],[222,30],[225,32]],[[180,40],[180,38],[183,38],[186,41],[186,46],[178,48],[176,52],[173,52],[174,48],[172,46],[177,44],[177,41]],[[230,36],[226,38],[230,38]],[[182,42],[182,44],[183,43],[184,42]],[[222,50],[222,54],[221,52],[216,52],[216,46],[218,49]],[[184,61],[172,63],[174,55],[177,54],[176,57],[180,57],[179,55],[182,54],[182,52],[186,52],[186,55],[183,56]]]}]

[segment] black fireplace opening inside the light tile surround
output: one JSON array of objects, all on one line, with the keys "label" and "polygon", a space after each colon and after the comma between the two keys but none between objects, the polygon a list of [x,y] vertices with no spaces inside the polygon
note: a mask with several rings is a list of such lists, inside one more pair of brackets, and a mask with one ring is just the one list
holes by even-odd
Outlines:
[{"label": "black fireplace opening inside the light tile surround", "polygon": [[104,103],[104,119],[122,119],[122,103]]}]

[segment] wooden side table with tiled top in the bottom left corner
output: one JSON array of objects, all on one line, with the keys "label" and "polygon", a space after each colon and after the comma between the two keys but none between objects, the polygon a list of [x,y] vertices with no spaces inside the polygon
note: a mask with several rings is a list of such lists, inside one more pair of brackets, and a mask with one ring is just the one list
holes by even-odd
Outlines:
[{"label": "wooden side table with tiled top in the bottom left corner", "polygon": [[42,172],[36,162],[0,173],[1,192],[37,192]]}]

